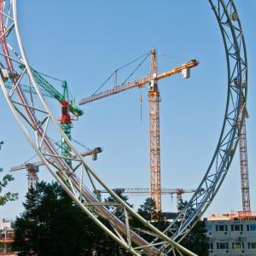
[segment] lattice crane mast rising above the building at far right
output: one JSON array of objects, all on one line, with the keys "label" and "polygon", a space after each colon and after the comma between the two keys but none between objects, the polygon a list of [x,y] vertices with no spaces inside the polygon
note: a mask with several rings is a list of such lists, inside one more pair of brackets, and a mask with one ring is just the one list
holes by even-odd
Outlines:
[{"label": "lattice crane mast rising above the building at far right", "polygon": [[[241,113],[246,111],[244,104],[241,104]],[[240,153],[240,172],[241,172],[241,200],[242,210],[251,212],[250,204],[250,188],[249,188],[249,175],[248,175],[248,163],[247,163],[247,134],[246,134],[246,115],[241,114],[238,122],[241,127],[241,133],[239,137],[239,153]]]}]

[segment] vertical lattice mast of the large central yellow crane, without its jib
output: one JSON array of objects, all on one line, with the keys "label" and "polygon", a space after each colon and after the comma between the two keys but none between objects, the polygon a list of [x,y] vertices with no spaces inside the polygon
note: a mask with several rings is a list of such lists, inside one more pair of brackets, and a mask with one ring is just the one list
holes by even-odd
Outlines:
[{"label": "vertical lattice mast of the large central yellow crane, without its jib", "polygon": [[156,50],[151,51],[151,81],[148,90],[149,101],[149,132],[150,132],[150,196],[155,202],[156,216],[151,213],[151,219],[159,219],[161,212],[161,180],[160,180],[160,93],[157,80]]}]

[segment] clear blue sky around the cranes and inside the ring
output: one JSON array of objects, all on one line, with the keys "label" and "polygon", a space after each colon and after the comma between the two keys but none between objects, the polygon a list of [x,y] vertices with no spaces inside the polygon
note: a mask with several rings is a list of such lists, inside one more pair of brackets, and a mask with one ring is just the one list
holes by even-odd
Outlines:
[{"label": "clear blue sky around the cranes and inside the ring", "polygon": [[[113,70],[152,47],[158,51],[160,72],[191,59],[200,61],[200,66],[191,70],[191,79],[177,74],[159,84],[162,187],[196,189],[218,142],[227,90],[224,47],[208,1],[27,0],[19,2],[18,7],[31,66],[66,79],[77,102],[90,96]],[[256,211],[256,2],[236,0],[236,7],[247,44],[247,149],[251,205]],[[146,61],[133,78],[148,74],[149,65]],[[131,69],[119,74],[120,83]],[[103,89],[112,86],[113,80]],[[61,90],[60,83],[55,83],[55,87]],[[49,104],[60,116],[58,102],[49,100]],[[4,140],[0,166],[8,172],[11,166],[24,163],[34,153],[2,91],[0,109],[0,140]],[[88,160],[90,165],[111,187],[149,187],[147,89],[130,90],[83,109],[84,116],[74,122],[73,137],[89,148],[103,148],[97,161]],[[207,215],[241,210],[237,153]],[[19,192],[20,200],[1,207],[0,218],[14,218],[22,211],[26,172],[16,172],[14,177],[9,190]],[[39,178],[51,180],[44,168],[40,169]],[[189,199],[189,195],[184,198]],[[143,198],[131,198],[131,202],[140,204]],[[175,197],[163,197],[164,211],[174,211],[175,207]]]}]

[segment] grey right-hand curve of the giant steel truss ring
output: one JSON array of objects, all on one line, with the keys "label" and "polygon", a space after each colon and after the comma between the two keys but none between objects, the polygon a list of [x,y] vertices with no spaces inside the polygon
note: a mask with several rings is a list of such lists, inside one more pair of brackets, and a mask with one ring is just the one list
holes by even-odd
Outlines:
[{"label": "grey right-hand curve of the giant steel truss ring", "polygon": [[[168,236],[182,240],[197,220],[201,218],[224,181],[236,151],[247,100],[247,51],[239,19],[233,0],[208,0],[224,42],[228,71],[228,95],[224,113],[224,123],[210,166],[188,204],[175,221],[165,230]],[[201,191],[205,191],[201,193]],[[175,227],[175,232],[171,231]]]}]

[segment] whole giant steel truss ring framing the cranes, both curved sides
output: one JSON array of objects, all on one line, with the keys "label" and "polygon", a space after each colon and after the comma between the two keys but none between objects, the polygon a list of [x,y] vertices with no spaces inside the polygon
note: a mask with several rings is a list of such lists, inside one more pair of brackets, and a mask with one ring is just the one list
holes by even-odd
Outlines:
[{"label": "whole giant steel truss ring framing the cranes, both curved sides", "polygon": [[[216,15],[224,39],[228,67],[227,106],[224,125],[211,164],[195,195],[192,196],[188,206],[178,217],[182,218],[182,223],[177,232],[171,235],[174,239],[182,239],[189,232],[195,224],[195,219],[200,218],[207,210],[218,192],[236,150],[241,129],[238,127],[238,119],[243,115],[242,109],[245,108],[247,98],[247,55],[236,6],[231,0],[208,1]],[[2,55],[0,84],[9,107],[15,114],[15,119],[49,172],[102,230],[133,255],[141,253],[165,255],[170,250],[195,255],[168,237],[173,224],[166,230],[166,234],[155,229],[122,201],[86,164],[67,136],[61,131],[60,125],[32,76],[20,37],[16,0],[0,0],[0,11],[0,41],[3,49],[0,52]],[[19,47],[14,49],[12,44],[17,44]],[[25,66],[24,71],[20,72],[19,65]],[[11,90],[7,90],[4,85],[4,82],[8,80],[13,83]],[[22,81],[29,83],[37,91],[38,98],[34,98],[32,94],[26,98],[20,89]],[[57,148],[55,144],[56,135],[64,137],[70,146],[72,160],[75,163],[72,167],[67,166],[65,158],[61,157],[60,148]],[[86,186],[84,177],[86,177]],[[104,203],[98,198],[98,195],[91,192],[96,191],[99,187],[108,190],[109,195],[113,197],[113,203]],[[205,189],[203,194],[201,188]],[[109,207],[121,207],[123,218],[117,218],[114,212],[109,210]],[[108,219],[112,228],[102,224],[97,218],[99,215]],[[129,215],[137,218],[153,236],[158,237],[158,240],[149,243],[137,235],[135,230],[131,230]],[[174,224],[177,224],[177,220]]]}]

